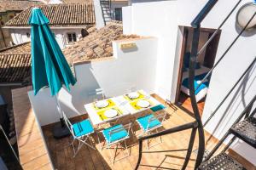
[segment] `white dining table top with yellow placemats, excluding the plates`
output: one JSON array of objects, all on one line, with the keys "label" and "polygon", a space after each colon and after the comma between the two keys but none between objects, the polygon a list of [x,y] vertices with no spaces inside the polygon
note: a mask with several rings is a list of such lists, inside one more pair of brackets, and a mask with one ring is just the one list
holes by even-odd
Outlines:
[{"label": "white dining table top with yellow placemats, excluding the plates", "polygon": [[[111,105],[106,106],[105,108],[96,108],[96,102],[92,102],[84,105],[84,108],[87,114],[90,117],[90,121],[93,125],[99,125],[103,122],[111,122],[116,120],[122,116],[133,115],[141,111],[148,110],[156,105],[160,105],[160,102],[154,99],[152,96],[147,94],[144,90],[138,90],[136,93],[140,94],[140,98],[138,99],[129,99],[127,94],[119,95],[117,97],[104,99],[111,101]],[[147,100],[150,105],[148,107],[139,107],[137,106],[137,101],[139,100]],[[114,116],[112,118],[102,119],[101,114],[104,114],[104,111],[108,111],[110,109],[117,109],[121,112],[121,114]],[[101,113],[101,114],[100,114]]]}]

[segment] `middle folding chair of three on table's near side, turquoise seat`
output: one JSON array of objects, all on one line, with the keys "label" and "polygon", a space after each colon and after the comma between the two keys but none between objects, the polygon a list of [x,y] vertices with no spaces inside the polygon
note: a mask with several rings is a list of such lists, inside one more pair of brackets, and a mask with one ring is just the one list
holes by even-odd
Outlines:
[{"label": "middle folding chair of three on table's near side, turquoise seat", "polygon": [[[104,143],[102,144],[102,150],[103,148],[107,148],[109,150],[109,155],[111,156],[111,160],[113,161],[113,163],[115,161],[119,161],[121,159],[124,159],[125,157],[130,156],[130,151],[127,149],[127,144],[126,144],[126,139],[130,138],[130,129],[131,129],[131,123],[126,124],[126,125],[122,125],[122,124],[118,124],[118,125],[114,125],[113,127],[108,127],[103,129],[100,133],[102,133],[103,137],[104,137]],[[100,143],[100,139],[98,136],[98,140]],[[105,143],[107,142],[107,145],[105,145]],[[125,147],[122,147],[122,149],[125,149],[127,151],[126,156],[123,156],[121,158],[119,158],[118,160],[115,160],[115,154],[117,152],[117,150],[119,149],[118,146],[121,142],[125,143]],[[113,147],[115,147],[114,150],[114,156],[112,156],[110,149]]]}]

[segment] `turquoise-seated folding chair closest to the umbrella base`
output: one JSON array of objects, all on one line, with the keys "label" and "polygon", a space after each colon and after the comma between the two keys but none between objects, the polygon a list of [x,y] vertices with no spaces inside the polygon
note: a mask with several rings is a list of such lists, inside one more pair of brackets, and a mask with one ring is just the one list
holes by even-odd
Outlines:
[{"label": "turquoise-seated folding chair closest to the umbrella base", "polygon": [[[63,118],[70,133],[73,135],[73,142],[71,143],[71,145],[73,146],[73,153],[74,153],[73,157],[75,157],[78,154],[83,144],[86,144],[91,149],[96,150],[92,146],[92,141],[90,139],[91,133],[94,133],[94,128],[91,126],[89,119],[85,119],[81,122],[76,122],[72,124],[64,113],[63,113]],[[88,139],[90,140],[90,144],[86,142]],[[74,141],[79,142],[79,146],[77,149],[75,149]]]}]

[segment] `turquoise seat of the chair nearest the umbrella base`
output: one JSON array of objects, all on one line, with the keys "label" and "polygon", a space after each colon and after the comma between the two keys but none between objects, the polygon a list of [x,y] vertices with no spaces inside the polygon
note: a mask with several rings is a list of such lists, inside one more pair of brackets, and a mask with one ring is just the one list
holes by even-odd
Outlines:
[{"label": "turquoise seat of the chair nearest the umbrella base", "polygon": [[76,122],[73,124],[73,133],[76,137],[84,136],[93,132],[94,130],[90,124],[89,119],[85,119],[82,122]]}]

